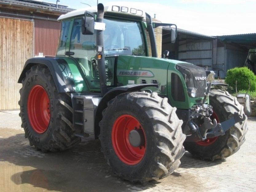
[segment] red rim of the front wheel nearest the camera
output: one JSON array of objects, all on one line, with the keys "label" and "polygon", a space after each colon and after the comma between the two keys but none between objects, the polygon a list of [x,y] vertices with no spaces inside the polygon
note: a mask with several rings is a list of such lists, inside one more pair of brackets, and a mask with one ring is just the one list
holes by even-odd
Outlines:
[{"label": "red rim of the front wheel nearest the camera", "polygon": [[[133,147],[129,142],[129,133],[134,129],[141,129],[145,143],[140,147]],[[112,145],[118,158],[127,165],[136,165],[146,152],[146,136],[140,122],[131,115],[118,117],[112,127]]]}]

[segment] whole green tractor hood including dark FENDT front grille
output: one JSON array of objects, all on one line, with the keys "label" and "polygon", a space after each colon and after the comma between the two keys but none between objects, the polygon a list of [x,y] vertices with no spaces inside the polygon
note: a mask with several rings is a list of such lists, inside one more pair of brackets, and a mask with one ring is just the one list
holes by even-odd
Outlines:
[{"label": "whole green tractor hood including dark FENDT front grille", "polygon": [[[206,88],[206,71],[191,63],[130,55],[117,56],[116,76],[118,86],[127,84],[158,84],[147,89],[168,97],[179,108],[189,109],[203,101]],[[188,89],[196,88],[190,97]]]}]

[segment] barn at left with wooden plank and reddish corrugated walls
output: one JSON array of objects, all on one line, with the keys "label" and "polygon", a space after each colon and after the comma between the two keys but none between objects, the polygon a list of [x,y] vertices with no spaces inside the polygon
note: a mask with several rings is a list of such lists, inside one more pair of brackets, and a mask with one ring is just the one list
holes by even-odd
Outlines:
[{"label": "barn at left with wooden plank and reddish corrugated walls", "polygon": [[18,77],[27,59],[55,56],[67,6],[33,0],[0,0],[0,110],[17,109]]}]

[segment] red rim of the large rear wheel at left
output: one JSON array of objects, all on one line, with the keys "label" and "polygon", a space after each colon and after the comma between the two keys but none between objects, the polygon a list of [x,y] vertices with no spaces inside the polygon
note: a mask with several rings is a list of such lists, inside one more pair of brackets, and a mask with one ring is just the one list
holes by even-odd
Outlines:
[{"label": "red rim of the large rear wheel at left", "polygon": [[48,94],[41,85],[35,85],[31,88],[27,110],[33,130],[40,134],[44,133],[48,128],[51,112]]}]

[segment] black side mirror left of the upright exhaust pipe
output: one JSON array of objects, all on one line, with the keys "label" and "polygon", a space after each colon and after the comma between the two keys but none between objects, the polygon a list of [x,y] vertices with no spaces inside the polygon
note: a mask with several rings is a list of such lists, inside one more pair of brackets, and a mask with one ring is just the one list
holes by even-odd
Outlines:
[{"label": "black side mirror left of the upright exhaust pipe", "polygon": [[85,17],[82,18],[82,34],[93,35],[94,34],[94,20],[95,14],[89,11],[85,11]]}]

